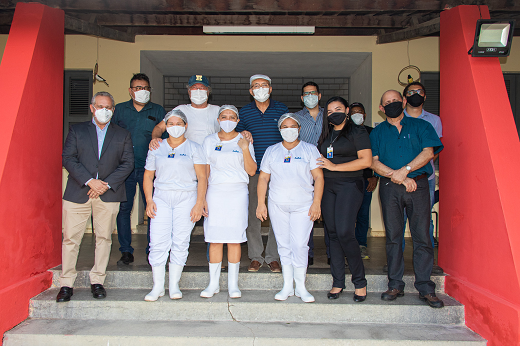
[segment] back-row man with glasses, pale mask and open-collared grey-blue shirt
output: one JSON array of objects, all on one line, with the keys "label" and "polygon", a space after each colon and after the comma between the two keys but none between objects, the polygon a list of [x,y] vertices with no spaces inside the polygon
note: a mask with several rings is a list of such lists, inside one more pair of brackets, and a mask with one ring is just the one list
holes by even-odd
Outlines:
[{"label": "back-row man with glasses, pale mask and open-collared grey-blue shirt", "polygon": [[[318,145],[323,123],[323,108],[319,106],[321,100],[320,87],[314,82],[307,82],[302,86],[301,100],[305,107],[296,112],[301,121],[300,139],[312,145]],[[330,259],[328,237],[325,233],[327,257]],[[314,229],[309,237],[309,265],[314,264]]]}]

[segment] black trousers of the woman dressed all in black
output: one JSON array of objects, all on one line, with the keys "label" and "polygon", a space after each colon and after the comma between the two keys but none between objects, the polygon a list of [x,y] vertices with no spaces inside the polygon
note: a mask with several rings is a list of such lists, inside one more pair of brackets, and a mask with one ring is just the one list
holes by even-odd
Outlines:
[{"label": "black trousers of the woman dressed all in black", "polygon": [[364,188],[362,177],[325,178],[321,212],[330,239],[333,287],[345,288],[345,256],[354,286],[363,288],[367,285],[355,231]]}]

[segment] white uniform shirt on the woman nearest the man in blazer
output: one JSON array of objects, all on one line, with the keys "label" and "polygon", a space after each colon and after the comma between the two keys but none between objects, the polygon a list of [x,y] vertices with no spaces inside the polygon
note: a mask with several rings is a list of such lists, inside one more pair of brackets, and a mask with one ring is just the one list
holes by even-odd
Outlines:
[{"label": "white uniform shirt on the woman nearest the man in blazer", "polygon": [[157,189],[196,191],[197,175],[194,164],[206,164],[200,145],[187,139],[172,149],[165,139],[160,143],[159,149],[148,151],[144,168],[155,171],[153,184]]}]

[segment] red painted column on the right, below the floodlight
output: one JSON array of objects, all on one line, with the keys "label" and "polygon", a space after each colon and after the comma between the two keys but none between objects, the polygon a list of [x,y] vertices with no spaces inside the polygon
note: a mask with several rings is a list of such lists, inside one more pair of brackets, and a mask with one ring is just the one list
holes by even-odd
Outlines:
[{"label": "red painted column on the right, below the floodlight", "polygon": [[487,6],[441,14],[439,264],[467,326],[488,345],[519,345],[520,142],[498,58],[467,53],[480,13],[489,18]]}]

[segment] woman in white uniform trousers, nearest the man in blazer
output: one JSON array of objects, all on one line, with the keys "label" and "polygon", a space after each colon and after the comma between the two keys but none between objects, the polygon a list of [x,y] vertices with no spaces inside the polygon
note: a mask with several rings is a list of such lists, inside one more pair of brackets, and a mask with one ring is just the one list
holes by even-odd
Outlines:
[{"label": "woman in white uniform trousers, nearest the man in blazer", "polygon": [[[146,214],[150,218],[150,254],[153,288],[144,300],[164,295],[165,265],[170,254],[171,299],[182,298],[179,280],[188,257],[195,222],[206,215],[206,159],[202,147],[186,139],[186,116],[172,110],[164,117],[170,135],[159,149],[148,151],[143,180]],[[155,181],[154,181],[155,175]],[[155,186],[155,191],[152,191]]]}]

